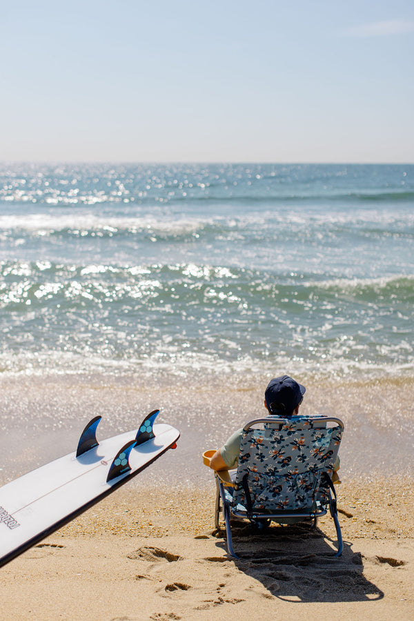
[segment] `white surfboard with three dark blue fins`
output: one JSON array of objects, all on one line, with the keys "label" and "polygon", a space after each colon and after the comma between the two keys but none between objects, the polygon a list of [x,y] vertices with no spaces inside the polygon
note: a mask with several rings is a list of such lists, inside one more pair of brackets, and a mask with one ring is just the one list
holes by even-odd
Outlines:
[{"label": "white surfboard with three dark blue fins", "polygon": [[0,487],[0,566],[73,520],[144,470],[168,449],[179,431],[154,424],[148,414],[138,431],[98,443],[100,416],[86,425],[75,453]]}]

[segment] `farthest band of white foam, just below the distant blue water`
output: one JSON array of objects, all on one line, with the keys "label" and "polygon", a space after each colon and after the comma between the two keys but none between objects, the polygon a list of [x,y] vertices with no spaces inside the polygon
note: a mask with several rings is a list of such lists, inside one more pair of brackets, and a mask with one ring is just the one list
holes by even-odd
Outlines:
[{"label": "farthest band of white foam, just below the distant blue water", "polygon": [[[91,213],[75,210],[68,213],[8,213],[0,215],[0,234],[13,237],[19,233],[45,237],[48,235],[75,235],[88,237],[100,235],[134,235],[155,233],[166,237],[197,235],[197,233],[218,233],[239,231],[248,235],[250,231],[259,230],[262,237],[289,233],[291,227],[302,229],[304,233],[330,233],[348,230],[359,235],[413,235],[414,212],[405,210],[368,210],[357,215],[346,210],[255,210],[239,213],[200,213],[182,215],[174,212],[119,214]],[[413,229],[413,230],[411,230]]]}]

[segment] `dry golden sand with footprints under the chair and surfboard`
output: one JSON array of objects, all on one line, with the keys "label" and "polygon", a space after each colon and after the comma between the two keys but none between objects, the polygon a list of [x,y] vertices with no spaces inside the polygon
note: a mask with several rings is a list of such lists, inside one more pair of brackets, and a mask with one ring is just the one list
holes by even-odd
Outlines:
[{"label": "dry golden sand with footprints under the chair and surfboard", "polygon": [[226,554],[214,486],[112,494],[0,569],[1,620],[302,620],[414,618],[411,480],[339,486],[316,530],[239,529]]}]

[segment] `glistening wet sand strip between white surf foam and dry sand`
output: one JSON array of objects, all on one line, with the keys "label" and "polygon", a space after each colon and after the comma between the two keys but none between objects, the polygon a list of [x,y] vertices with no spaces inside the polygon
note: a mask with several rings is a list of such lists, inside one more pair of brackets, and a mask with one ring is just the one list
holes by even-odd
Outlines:
[{"label": "glistening wet sand strip between white surf foam and dry sand", "polygon": [[[294,375],[294,374],[293,374]],[[302,413],[334,415],[345,425],[340,448],[341,475],[376,480],[377,476],[414,477],[414,375],[359,376],[341,380],[318,375],[299,377],[306,386]],[[168,451],[144,473],[161,484],[194,480],[208,484],[201,454],[221,446],[231,431],[263,413],[263,386],[268,377],[0,377],[2,455],[0,484],[41,464],[75,451],[86,423],[101,415],[98,441],[139,426],[159,408],[157,422],[181,433],[177,451]],[[400,458],[399,455],[402,455]]]}]

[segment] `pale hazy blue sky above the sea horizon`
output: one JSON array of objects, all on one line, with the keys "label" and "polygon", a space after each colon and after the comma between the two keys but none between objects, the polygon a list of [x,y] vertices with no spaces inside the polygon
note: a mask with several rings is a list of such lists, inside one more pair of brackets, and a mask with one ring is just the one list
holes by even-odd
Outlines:
[{"label": "pale hazy blue sky above the sea horizon", "polygon": [[0,159],[414,162],[413,0],[0,0]]}]

